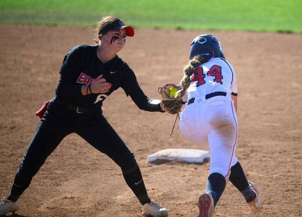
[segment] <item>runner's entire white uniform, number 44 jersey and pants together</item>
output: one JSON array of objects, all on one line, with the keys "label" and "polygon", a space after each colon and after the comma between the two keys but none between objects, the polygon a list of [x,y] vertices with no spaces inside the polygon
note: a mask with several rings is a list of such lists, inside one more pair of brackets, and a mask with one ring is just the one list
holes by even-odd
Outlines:
[{"label": "runner's entire white uniform, number 44 jersey and pants together", "polygon": [[[190,79],[183,98],[190,103],[179,115],[179,129],[188,141],[210,151],[210,174],[220,173],[227,181],[231,167],[238,162],[238,122],[230,95],[237,95],[233,66],[223,58],[212,58],[196,67]],[[228,94],[205,97],[218,91]]]}]

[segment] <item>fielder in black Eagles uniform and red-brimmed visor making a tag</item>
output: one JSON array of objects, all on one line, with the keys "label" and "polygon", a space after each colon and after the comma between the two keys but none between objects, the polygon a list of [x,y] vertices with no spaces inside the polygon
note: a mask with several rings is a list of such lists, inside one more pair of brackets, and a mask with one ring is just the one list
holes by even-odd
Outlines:
[{"label": "fielder in black Eagles uniform and red-brimmed visor making a tag", "polygon": [[[143,214],[167,216],[168,210],[150,200],[140,168],[102,115],[101,106],[119,87],[142,110],[162,111],[160,101],[145,96],[134,72],[116,54],[125,45],[125,37],[134,30],[117,17],[103,18],[97,28],[96,45],[79,45],[66,54],[55,97],[39,123],[14,177],[9,196],[0,203],[0,215],[18,210],[18,198],[46,158],[70,133],[77,133],[122,169],[124,179],[143,205]],[[101,134],[101,140],[99,136]],[[108,145],[109,144],[109,145]]]}]

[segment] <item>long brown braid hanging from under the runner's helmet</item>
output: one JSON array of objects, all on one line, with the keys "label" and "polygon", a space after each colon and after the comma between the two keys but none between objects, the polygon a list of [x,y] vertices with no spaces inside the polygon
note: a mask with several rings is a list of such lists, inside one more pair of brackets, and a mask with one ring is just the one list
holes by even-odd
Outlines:
[{"label": "long brown braid hanging from under the runner's helmet", "polygon": [[193,75],[195,68],[207,61],[208,59],[204,58],[203,56],[194,56],[194,58],[189,61],[188,65],[186,65],[184,68],[184,77],[182,78],[183,89],[176,92],[174,99],[163,99],[161,101],[165,109],[173,109],[176,102],[184,97],[186,90],[191,85],[190,76]]}]

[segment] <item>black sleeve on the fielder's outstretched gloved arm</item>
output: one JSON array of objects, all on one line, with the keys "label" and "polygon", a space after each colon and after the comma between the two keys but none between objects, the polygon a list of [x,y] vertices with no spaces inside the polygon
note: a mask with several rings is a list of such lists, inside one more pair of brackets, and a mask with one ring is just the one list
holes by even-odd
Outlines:
[{"label": "black sleeve on the fielder's outstretched gloved arm", "polygon": [[[126,64],[126,63],[124,63]],[[124,75],[121,81],[121,88],[124,89],[126,95],[130,95],[133,102],[139,107],[141,110],[145,111],[160,111],[164,112],[160,108],[160,101],[156,99],[148,98],[140,86],[138,85],[136,76],[132,69],[126,64],[124,69]]]}]

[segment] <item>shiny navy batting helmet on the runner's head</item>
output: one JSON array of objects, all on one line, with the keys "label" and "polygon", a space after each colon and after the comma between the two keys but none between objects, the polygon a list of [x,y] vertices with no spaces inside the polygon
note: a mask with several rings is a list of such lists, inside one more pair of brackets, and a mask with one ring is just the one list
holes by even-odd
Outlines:
[{"label": "shiny navy batting helmet on the runner's head", "polygon": [[214,35],[199,35],[191,43],[190,59],[203,56],[207,59],[222,57],[225,59],[220,41]]}]

